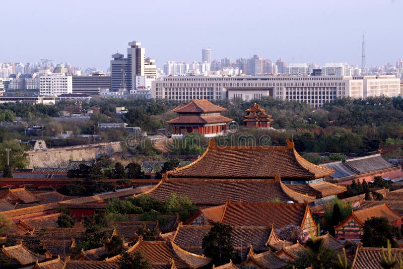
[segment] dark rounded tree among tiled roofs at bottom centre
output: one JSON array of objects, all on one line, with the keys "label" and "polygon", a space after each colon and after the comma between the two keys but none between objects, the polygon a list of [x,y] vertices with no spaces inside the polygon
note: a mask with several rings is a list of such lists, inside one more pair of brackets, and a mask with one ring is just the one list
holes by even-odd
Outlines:
[{"label": "dark rounded tree among tiled roofs at bottom centre", "polygon": [[235,249],[232,245],[232,227],[220,222],[211,228],[210,232],[203,237],[202,247],[204,254],[213,259],[216,265],[228,263],[235,257]]}]

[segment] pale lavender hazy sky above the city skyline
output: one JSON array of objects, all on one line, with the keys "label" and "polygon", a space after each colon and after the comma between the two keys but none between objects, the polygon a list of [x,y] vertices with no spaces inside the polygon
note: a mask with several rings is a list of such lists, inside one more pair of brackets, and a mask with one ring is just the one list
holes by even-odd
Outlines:
[{"label": "pale lavender hazy sky above the city skyline", "polygon": [[157,65],[168,60],[261,57],[289,62],[395,64],[403,1],[2,1],[0,62],[41,58],[106,70],[137,40]]}]

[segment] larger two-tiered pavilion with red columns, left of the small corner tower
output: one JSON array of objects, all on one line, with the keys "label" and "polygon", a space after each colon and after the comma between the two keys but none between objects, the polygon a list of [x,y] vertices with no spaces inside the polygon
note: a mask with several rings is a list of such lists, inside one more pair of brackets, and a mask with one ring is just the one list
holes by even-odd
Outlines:
[{"label": "larger two-tiered pavilion with red columns, left of the small corner tower", "polygon": [[184,133],[203,133],[214,137],[227,131],[227,123],[232,119],[220,115],[227,109],[211,103],[209,100],[193,100],[186,105],[179,105],[173,112],[179,117],[167,121],[173,125],[173,135]]}]

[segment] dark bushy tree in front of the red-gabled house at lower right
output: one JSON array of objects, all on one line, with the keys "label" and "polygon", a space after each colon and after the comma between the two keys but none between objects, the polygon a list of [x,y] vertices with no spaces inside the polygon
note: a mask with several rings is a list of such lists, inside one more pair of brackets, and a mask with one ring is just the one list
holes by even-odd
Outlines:
[{"label": "dark bushy tree in front of the red-gabled house at lower right", "polygon": [[385,217],[372,217],[365,221],[362,237],[364,247],[387,247],[388,240],[392,247],[398,247],[394,237],[395,229]]}]

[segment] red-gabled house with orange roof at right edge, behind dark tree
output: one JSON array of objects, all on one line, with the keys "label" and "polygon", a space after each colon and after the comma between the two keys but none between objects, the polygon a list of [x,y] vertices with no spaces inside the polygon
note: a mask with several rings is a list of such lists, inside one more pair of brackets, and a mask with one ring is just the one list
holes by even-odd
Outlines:
[{"label": "red-gabled house with orange roof at right edge, behind dark tree", "polygon": [[336,239],[361,239],[365,221],[372,217],[385,217],[391,225],[400,227],[401,216],[392,211],[387,204],[353,211],[344,221],[334,226]]}]

